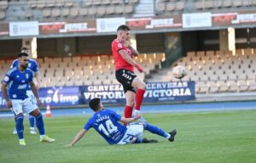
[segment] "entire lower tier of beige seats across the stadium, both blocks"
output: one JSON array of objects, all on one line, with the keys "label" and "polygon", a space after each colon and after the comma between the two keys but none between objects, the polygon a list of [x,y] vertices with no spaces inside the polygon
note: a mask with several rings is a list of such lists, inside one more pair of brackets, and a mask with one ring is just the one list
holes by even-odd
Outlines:
[{"label": "entire lower tier of beige seats across the stadium, both blocks", "polygon": [[[76,56],[37,59],[42,87],[117,84],[111,55]],[[256,49],[188,52],[170,68],[161,69],[165,53],[143,53],[136,58],[147,74],[135,70],[147,82],[177,82],[172,77],[173,65],[184,65],[187,76],[182,81],[195,81],[196,93],[256,91]],[[12,60],[0,60],[1,72],[9,69]],[[160,68],[160,69],[157,69]],[[157,71],[157,73],[154,73]],[[2,73],[1,73],[2,75]]]}]

